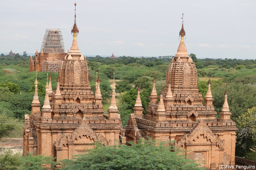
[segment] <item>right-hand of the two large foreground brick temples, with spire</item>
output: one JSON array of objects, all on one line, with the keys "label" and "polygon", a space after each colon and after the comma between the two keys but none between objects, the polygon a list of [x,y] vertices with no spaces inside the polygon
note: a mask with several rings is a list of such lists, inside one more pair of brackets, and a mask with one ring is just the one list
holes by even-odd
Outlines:
[{"label": "right-hand of the two large foreground brick temples, with spire", "polygon": [[166,71],[166,84],[160,95],[155,89],[155,77],[153,79],[146,115],[143,114],[138,90],[134,114],[130,115],[129,128],[125,131],[126,140],[137,142],[147,136],[164,142],[175,140],[175,146],[183,148],[186,155],[201,167],[219,169],[222,164],[235,166],[237,128],[230,119],[227,89],[221,117],[216,118],[210,79],[205,99],[199,93],[197,69],[184,43],[183,21],[179,35],[181,41]]}]

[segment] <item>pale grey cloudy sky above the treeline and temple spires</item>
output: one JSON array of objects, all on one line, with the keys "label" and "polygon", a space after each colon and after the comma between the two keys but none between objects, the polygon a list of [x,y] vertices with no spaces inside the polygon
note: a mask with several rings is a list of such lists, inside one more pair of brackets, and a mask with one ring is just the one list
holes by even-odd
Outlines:
[{"label": "pale grey cloudy sky above the treeline and temple spires", "polygon": [[[71,0],[1,1],[0,52],[34,53],[46,28],[72,44]],[[199,58],[256,59],[256,1],[76,0],[84,55],[175,55],[184,13],[188,53]]]}]

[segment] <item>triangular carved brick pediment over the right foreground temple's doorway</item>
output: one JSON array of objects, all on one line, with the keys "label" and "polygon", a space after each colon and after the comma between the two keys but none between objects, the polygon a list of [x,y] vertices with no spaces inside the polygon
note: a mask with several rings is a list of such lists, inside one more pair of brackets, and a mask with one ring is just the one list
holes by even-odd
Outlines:
[{"label": "triangular carved brick pediment over the right foreground temple's doorway", "polygon": [[209,145],[216,144],[222,148],[220,138],[211,131],[207,124],[201,119],[197,127],[190,133],[184,135],[177,142],[177,146],[182,145],[197,145],[198,143],[208,143]]}]

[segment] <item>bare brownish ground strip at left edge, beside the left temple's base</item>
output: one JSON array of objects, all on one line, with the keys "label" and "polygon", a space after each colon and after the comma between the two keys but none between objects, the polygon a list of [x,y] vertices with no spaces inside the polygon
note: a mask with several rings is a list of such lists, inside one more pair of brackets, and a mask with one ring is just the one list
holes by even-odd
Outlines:
[{"label": "bare brownish ground strip at left edge, beside the left temple's base", "polygon": [[22,138],[2,138],[0,140],[0,154],[11,150],[14,154],[23,152],[23,139]]}]

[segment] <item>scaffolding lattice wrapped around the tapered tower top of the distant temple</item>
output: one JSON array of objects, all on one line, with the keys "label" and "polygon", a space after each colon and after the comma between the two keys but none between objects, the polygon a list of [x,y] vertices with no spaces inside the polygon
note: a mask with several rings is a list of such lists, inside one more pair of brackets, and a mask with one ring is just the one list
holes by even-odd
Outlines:
[{"label": "scaffolding lattice wrapped around the tapered tower top of the distant temple", "polygon": [[46,29],[41,51],[55,54],[65,53],[64,40],[60,29]]}]

